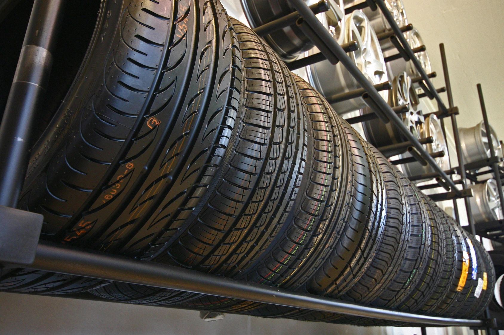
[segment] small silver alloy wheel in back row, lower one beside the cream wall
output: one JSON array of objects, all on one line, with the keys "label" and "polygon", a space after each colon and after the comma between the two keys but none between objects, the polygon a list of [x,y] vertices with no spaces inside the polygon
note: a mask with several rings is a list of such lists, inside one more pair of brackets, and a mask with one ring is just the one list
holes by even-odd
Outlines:
[{"label": "small silver alloy wheel in back row, lower one beside the cream wall", "polygon": [[[420,33],[416,28],[414,28],[411,31],[406,32],[405,34],[406,41],[408,42],[409,46],[414,49],[417,48],[421,45],[424,45],[422,37],[420,36]],[[386,56],[390,56],[392,54],[397,53],[397,50],[391,49],[385,52]],[[429,55],[427,54],[427,51],[422,51],[422,52],[417,52],[415,53],[416,58],[420,62],[420,65],[422,65],[422,68],[425,70],[426,73],[432,72],[432,68],[430,66],[430,60],[429,60]],[[389,69],[391,73],[396,74],[396,73],[401,73],[403,71],[406,71],[409,75],[412,77],[417,77],[420,75],[418,70],[416,69],[415,65],[413,62],[410,61],[405,61],[403,58],[399,58],[393,61],[390,61],[388,63]]]}]

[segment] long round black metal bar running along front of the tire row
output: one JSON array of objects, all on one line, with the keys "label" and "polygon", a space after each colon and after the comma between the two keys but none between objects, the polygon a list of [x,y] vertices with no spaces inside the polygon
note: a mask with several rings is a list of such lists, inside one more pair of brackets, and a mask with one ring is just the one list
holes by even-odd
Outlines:
[{"label": "long round black metal bar running along front of the tire row", "polygon": [[39,243],[35,262],[30,268],[362,317],[436,325],[482,324],[481,320],[426,316],[363,306],[155,262],[62,247],[45,241]]}]

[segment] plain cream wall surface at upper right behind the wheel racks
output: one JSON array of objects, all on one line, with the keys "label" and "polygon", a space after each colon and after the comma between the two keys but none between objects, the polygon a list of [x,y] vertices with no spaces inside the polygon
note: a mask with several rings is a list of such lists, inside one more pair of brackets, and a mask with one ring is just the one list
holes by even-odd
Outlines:
[{"label": "plain cream wall surface at upper right behind the wheel racks", "polygon": [[[427,47],[436,88],[445,86],[439,43],[445,44],[459,127],[482,120],[476,84],[481,83],[490,125],[504,140],[504,1],[403,0],[410,23]],[[440,96],[447,102],[446,94]],[[447,103],[448,104],[448,103]]]}]

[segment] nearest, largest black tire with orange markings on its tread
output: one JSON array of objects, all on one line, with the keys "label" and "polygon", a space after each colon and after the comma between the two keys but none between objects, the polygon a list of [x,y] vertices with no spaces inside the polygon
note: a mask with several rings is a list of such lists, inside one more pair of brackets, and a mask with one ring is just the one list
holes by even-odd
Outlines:
[{"label": "nearest, largest black tire with orange markings on its tread", "polygon": [[[100,13],[20,206],[44,215],[44,239],[153,259],[215,188],[236,136],[241,60],[213,0],[105,1]],[[44,276],[8,287],[32,290]]]}]

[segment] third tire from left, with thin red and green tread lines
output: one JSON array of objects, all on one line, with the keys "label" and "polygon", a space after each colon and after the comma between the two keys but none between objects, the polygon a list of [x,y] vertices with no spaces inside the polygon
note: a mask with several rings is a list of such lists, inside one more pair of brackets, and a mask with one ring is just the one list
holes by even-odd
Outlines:
[{"label": "third tire from left, with thin red and green tread lines", "polygon": [[[236,29],[251,31],[235,24]],[[238,28],[239,27],[239,28]],[[265,46],[261,46],[264,48]],[[245,58],[245,55],[244,55]],[[311,268],[318,259],[321,240],[329,237],[335,229],[334,220],[337,190],[340,176],[340,139],[334,133],[338,128],[331,119],[329,105],[314,93],[301,78],[294,77],[303,103],[307,106],[305,142],[303,147],[304,171],[299,179],[300,195],[292,204],[288,221],[275,237],[263,256],[238,278],[247,281],[292,288],[299,286],[293,280],[299,273]],[[302,178],[302,180],[300,179]],[[242,302],[221,297],[204,297],[185,304],[187,307],[237,312],[261,306],[258,303]]]}]

